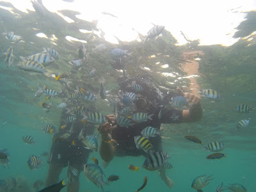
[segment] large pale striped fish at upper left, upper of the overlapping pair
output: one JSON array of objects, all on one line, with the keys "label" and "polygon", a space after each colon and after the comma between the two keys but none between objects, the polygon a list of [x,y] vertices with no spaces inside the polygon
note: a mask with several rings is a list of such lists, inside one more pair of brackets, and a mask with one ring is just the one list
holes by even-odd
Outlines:
[{"label": "large pale striped fish at upper left, upper of the overlapping pair", "polygon": [[24,58],[24,57],[20,56],[20,59],[22,61],[37,61],[39,63],[42,63],[42,65],[44,65],[44,67],[47,67],[52,62],[54,62],[54,58],[52,58],[51,55],[45,54],[45,53],[36,53],[36,54],[29,56],[28,58]]}]

